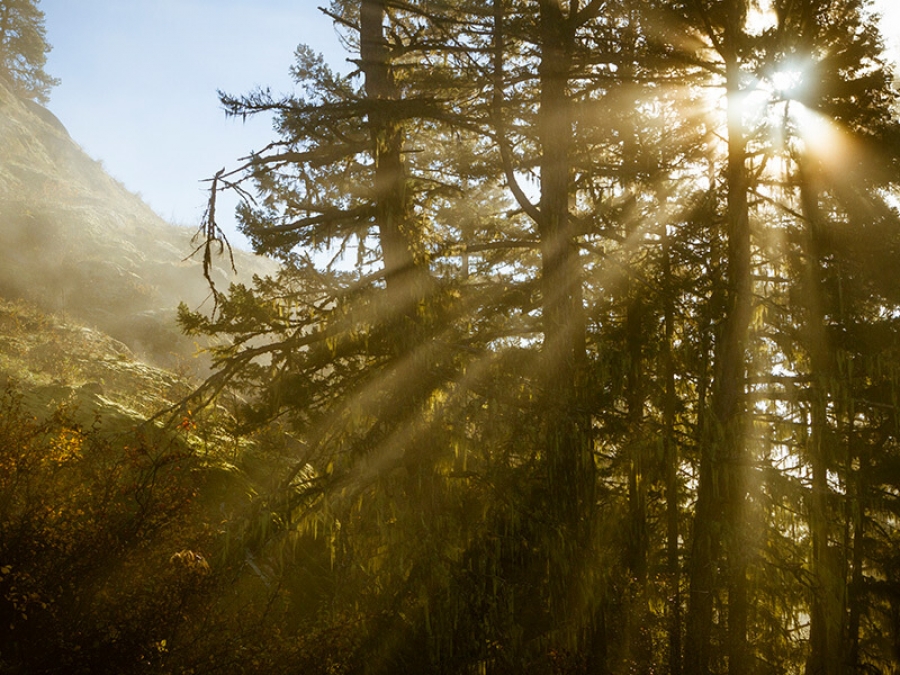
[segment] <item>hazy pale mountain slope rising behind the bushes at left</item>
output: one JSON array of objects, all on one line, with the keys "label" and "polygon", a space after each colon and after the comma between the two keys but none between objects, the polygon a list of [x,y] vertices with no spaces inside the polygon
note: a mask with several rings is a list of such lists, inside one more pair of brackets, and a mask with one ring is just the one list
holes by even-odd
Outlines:
[{"label": "hazy pale mountain slope rising behind the bushes at left", "polygon": [[[185,261],[193,231],[163,221],[2,81],[0,148],[0,296],[68,313],[158,364],[194,351],[174,323],[180,301],[209,295],[200,264]],[[273,269],[236,254],[242,277]]]}]

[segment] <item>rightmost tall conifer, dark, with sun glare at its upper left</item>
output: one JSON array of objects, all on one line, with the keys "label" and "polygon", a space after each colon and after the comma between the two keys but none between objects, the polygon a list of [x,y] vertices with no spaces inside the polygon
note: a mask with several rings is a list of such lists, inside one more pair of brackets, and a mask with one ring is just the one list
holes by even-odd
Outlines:
[{"label": "rightmost tall conifer, dark, with sun glare at its upper left", "polygon": [[[861,261],[854,260],[860,247],[843,239],[848,229],[860,241],[876,236],[882,242],[883,255],[896,255],[897,215],[891,213],[883,195],[897,183],[898,132],[890,114],[890,73],[881,62],[880,40],[867,24],[865,11],[862,3],[853,1],[798,3],[781,14],[774,31],[790,31],[796,36],[785,62],[799,68],[792,88],[784,94],[788,99],[786,131],[799,141],[790,144],[788,140],[794,177],[791,187],[785,189],[785,198],[793,199],[802,215],[795,236],[799,250],[793,254],[792,265],[799,276],[796,321],[803,327],[800,342],[810,382],[805,396],[809,419],[805,454],[811,481],[805,507],[812,573],[808,673],[863,667],[859,639],[860,616],[868,604],[863,592],[863,540],[870,487],[864,480],[860,482],[865,472],[856,471],[853,465],[866,464],[876,456],[861,439],[883,420],[859,400],[867,396],[856,384],[862,373],[851,375],[846,368],[848,362],[865,360],[861,356],[867,348],[865,342],[848,349],[839,335],[858,330],[859,321],[878,326],[876,330],[893,331],[880,317],[863,319],[858,313],[858,308],[870,303],[892,306],[895,299],[889,288],[873,284],[877,273],[860,274]],[[819,138],[804,129],[807,124],[821,125]],[[838,161],[841,175],[835,170]],[[885,259],[873,264],[872,270],[884,264],[896,262]],[[857,290],[857,284],[865,290]],[[850,302],[857,292],[860,295]],[[868,372],[867,368],[862,372]],[[876,388],[886,386],[893,377],[870,372],[867,376],[881,381]],[[884,446],[880,450],[889,454]],[[842,455],[843,461],[839,459]],[[852,496],[841,499],[834,494],[829,472],[844,485],[853,486]],[[859,515],[852,519],[842,516],[842,506]],[[834,527],[836,522],[843,531]]]}]

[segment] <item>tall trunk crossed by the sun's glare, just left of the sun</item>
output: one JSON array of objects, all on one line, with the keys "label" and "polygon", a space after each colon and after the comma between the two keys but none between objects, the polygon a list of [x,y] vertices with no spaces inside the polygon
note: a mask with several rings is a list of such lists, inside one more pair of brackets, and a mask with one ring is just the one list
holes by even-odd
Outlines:
[{"label": "tall trunk crossed by the sun's glare, just left of the sun", "polygon": [[724,569],[728,633],[725,655],[730,675],[749,668],[747,621],[748,543],[746,438],[746,356],[752,311],[750,221],[746,139],[743,129],[741,67],[744,0],[732,0],[722,37],[728,96],[728,166],[725,227],[727,261],[726,313],[718,337],[710,419],[703,431],[700,476],[690,564],[690,607],[685,667],[690,673],[709,672],[713,600],[720,590],[717,569]]}]

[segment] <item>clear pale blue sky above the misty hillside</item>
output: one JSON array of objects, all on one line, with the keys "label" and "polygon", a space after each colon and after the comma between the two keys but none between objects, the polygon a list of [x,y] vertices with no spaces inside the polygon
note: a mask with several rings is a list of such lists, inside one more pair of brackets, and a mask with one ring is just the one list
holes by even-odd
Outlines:
[{"label": "clear pale blue sky above the misty hillside", "polygon": [[[87,153],[163,218],[196,226],[201,179],[272,140],[270,124],[227,120],[216,90],[290,91],[306,43],[342,68],[324,0],[42,0],[48,72],[62,80],[50,109]],[[900,47],[900,0],[877,0]],[[229,202],[233,204],[233,202]],[[233,207],[220,224],[232,243]]]}]

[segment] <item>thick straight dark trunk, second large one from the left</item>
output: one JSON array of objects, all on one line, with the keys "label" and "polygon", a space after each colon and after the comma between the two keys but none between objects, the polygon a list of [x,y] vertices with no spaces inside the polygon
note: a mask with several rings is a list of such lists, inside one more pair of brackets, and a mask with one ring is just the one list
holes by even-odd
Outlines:
[{"label": "thick straight dark trunk, second large one from the left", "polygon": [[[561,0],[540,1],[541,240],[549,508],[558,541],[548,551],[551,606],[559,629],[580,609],[580,577],[589,545],[594,468],[581,403],[585,319],[581,263],[569,219],[572,113],[568,96],[574,29]],[[548,542],[550,543],[550,542]]]}]

